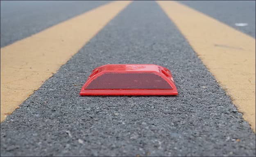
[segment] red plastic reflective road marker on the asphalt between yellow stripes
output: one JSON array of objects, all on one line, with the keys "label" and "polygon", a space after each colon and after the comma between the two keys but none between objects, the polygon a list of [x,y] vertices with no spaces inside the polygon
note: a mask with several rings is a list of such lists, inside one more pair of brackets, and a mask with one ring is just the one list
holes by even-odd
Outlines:
[{"label": "red plastic reflective road marker on the asphalt between yellow stripes", "polygon": [[97,67],[80,95],[178,95],[170,70],[155,64]]}]

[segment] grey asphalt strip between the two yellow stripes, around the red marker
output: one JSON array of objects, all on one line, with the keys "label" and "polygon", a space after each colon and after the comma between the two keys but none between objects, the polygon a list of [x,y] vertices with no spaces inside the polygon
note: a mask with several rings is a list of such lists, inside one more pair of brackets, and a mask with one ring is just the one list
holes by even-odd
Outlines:
[{"label": "grey asphalt strip between the two yellow stripes, around the red marker", "polygon": [[[178,96],[79,96],[97,66],[149,63],[172,71]],[[249,124],[153,1],[118,14],[0,131],[1,156],[256,155]]]}]

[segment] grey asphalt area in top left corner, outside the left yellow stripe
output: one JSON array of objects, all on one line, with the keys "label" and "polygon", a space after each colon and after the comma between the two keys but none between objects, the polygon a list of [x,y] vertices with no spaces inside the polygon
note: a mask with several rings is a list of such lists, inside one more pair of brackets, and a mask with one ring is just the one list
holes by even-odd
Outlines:
[{"label": "grey asphalt area in top left corner, outside the left yellow stripe", "polygon": [[2,1],[1,47],[109,1]]}]

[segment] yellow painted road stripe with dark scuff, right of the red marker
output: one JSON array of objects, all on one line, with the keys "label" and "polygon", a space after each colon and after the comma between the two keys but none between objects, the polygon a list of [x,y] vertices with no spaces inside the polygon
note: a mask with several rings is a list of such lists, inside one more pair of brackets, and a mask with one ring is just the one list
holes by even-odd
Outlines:
[{"label": "yellow painted road stripe with dark scuff, right of the red marker", "polygon": [[158,4],[255,132],[255,39],[178,2]]}]

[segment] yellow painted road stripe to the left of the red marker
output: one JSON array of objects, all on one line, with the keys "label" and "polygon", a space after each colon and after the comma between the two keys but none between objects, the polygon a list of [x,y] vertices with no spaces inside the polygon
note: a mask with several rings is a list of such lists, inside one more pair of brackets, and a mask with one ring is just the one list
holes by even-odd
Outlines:
[{"label": "yellow painted road stripe to the left of the red marker", "polygon": [[1,122],[131,1],[115,1],[1,48]]}]

